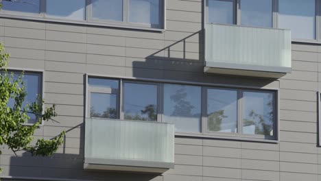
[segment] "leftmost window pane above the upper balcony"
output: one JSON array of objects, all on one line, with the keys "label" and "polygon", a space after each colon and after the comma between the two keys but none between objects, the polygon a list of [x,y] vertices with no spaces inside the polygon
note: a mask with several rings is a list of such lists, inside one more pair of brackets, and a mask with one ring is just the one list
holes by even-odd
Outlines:
[{"label": "leftmost window pane above the upper balcony", "polygon": [[234,4],[233,1],[209,1],[209,22],[233,24]]}]

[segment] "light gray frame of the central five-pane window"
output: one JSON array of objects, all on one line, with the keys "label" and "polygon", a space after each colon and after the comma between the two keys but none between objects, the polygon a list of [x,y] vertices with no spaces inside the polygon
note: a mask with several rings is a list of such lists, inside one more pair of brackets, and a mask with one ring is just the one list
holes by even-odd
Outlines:
[{"label": "light gray frame of the central five-pane window", "polygon": [[[243,140],[243,141],[256,141],[256,142],[266,142],[266,143],[278,143],[280,135],[280,126],[279,126],[279,89],[278,88],[258,88],[251,86],[235,86],[235,85],[222,85],[222,84],[205,84],[200,82],[182,82],[182,81],[170,81],[170,80],[154,80],[154,79],[144,79],[144,78],[133,78],[133,77],[108,77],[106,75],[88,75],[86,74],[86,106],[85,107],[85,117],[89,117],[88,108],[90,108],[90,99],[88,99],[88,77],[99,77],[106,79],[116,79],[119,80],[120,85],[120,97],[119,97],[119,118],[123,119],[123,83],[137,83],[137,84],[156,84],[158,85],[158,108],[157,108],[157,121],[163,122],[163,85],[164,84],[182,84],[182,85],[191,85],[191,86],[200,86],[201,87],[201,133],[193,132],[176,132],[176,136],[191,136],[191,137],[200,137],[200,138],[222,138],[230,140]],[[238,99],[241,99],[241,93],[243,91],[258,92],[258,93],[273,93],[274,97],[274,136],[266,136],[260,134],[241,134],[241,104],[242,101],[237,101],[237,133],[227,133],[227,132],[210,132],[207,131],[207,108],[206,108],[206,89],[207,88],[218,88],[218,89],[230,89],[237,90]]]}]

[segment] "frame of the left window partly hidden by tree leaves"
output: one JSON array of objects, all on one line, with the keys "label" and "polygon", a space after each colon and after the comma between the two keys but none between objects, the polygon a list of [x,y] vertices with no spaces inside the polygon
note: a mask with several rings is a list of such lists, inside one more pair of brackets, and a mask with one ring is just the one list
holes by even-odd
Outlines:
[{"label": "frame of the left window partly hidden by tree leaves", "polygon": [[[21,68],[16,68],[16,67],[8,67],[8,73],[10,74],[11,72],[13,73],[22,73],[25,71],[25,74],[29,75],[38,75],[39,77],[39,82],[38,82],[38,93],[41,93],[40,99],[45,99],[45,71],[40,70],[40,69],[21,69]],[[43,112],[42,114],[45,113],[45,104],[43,104]],[[23,125],[34,125],[34,123],[23,123]],[[42,120],[39,126],[45,125],[44,121]]]}]

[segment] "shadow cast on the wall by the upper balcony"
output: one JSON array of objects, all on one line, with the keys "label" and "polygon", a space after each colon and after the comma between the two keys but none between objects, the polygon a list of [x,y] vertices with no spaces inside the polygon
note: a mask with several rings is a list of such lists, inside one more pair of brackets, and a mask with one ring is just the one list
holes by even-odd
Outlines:
[{"label": "shadow cast on the wall by the upper balcony", "polygon": [[[204,73],[204,31],[168,43],[145,58],[132,60],[132,77],[262,88],[276,79]],[[166,45],[168,44],[168,45]]]}]

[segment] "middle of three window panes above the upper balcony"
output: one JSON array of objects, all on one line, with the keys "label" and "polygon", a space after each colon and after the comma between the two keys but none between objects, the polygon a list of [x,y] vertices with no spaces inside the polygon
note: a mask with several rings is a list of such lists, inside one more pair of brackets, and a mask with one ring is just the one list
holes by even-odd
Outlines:
[{"label": "middle of three window panes above the upper balcony", "polygon": [[272,0],[241,0],[241,25],[272,27]]}]

